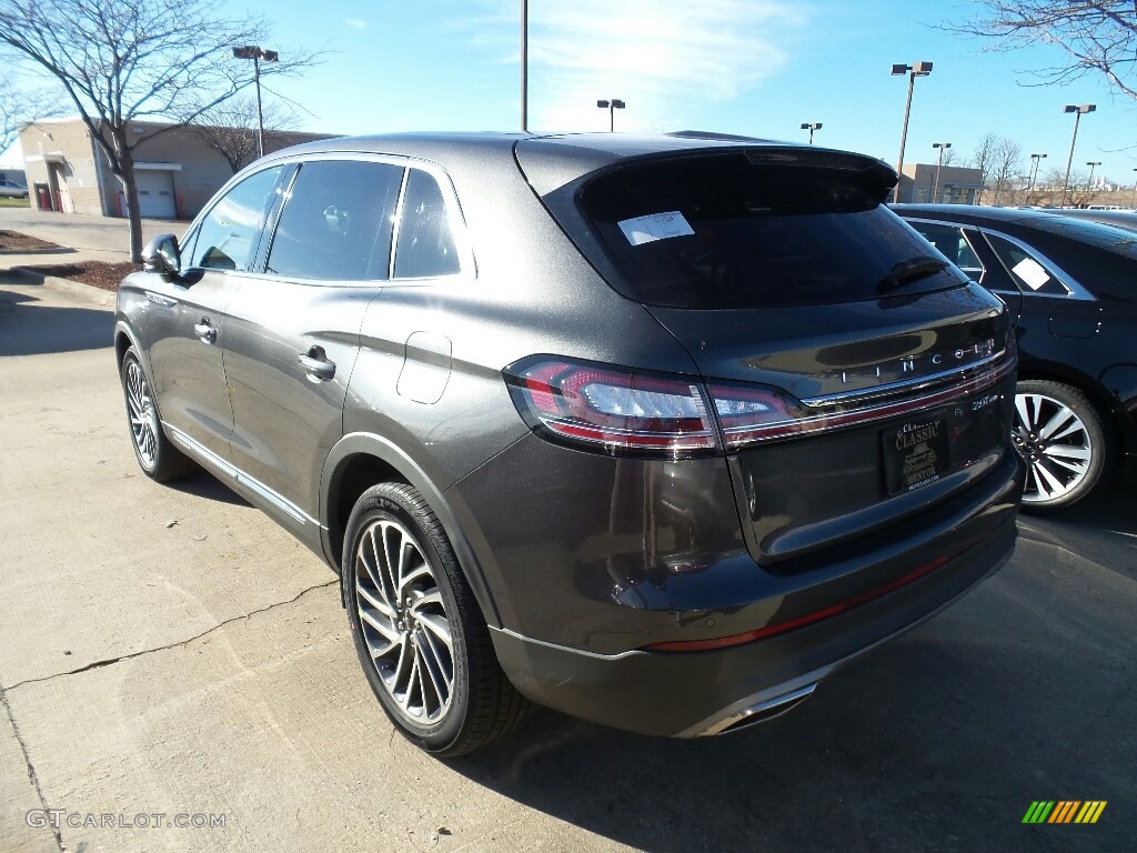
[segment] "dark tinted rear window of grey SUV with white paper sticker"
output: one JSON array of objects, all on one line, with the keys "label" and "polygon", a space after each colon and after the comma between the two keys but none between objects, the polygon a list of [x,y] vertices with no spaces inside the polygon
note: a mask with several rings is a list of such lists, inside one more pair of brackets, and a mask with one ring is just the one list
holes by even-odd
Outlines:
[{"label": "dark tinted rear window of grey SUV with white paper sticker", "polygon": [[[675,308],[832,305],[877,299],[897,264],[941,257],[881,205],[879,169],[783,160],[653,159],[590,181],[580,205],[617,290]],[[890,292],[963,281],[948,267]]]}]

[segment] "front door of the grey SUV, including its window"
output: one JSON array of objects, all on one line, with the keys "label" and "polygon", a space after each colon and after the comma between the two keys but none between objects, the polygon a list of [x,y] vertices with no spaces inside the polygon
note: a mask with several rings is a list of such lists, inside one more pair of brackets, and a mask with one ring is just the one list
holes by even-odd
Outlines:
[{"label": "front door of the grey SUV, including its window", "polygon": [[281,173],[280,166],[257,172],[213,205],[186,239],[181,279],[149,276],[150,367],[163,422],[223,459],[233,431],[225,306],[248,279]]}]

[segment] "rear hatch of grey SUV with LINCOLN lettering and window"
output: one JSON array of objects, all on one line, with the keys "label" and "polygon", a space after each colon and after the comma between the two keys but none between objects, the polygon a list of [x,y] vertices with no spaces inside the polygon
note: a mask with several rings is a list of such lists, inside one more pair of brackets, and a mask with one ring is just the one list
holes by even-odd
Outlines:
[{"label": "rear hatch of grey SUV with LINCOLN lettering and window", "polygon": [[894,182],[858,155],[716,146],[542,197],[690,353],[750,554],[771,569],[951,503],[1007,450],[1002,304],[882,205]]}]

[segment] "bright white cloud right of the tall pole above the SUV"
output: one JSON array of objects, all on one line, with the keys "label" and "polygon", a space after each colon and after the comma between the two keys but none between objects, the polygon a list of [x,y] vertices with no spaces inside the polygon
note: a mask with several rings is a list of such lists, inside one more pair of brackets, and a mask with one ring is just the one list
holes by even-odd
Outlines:
[{"label": "bright white cloud right of the tall pole above the SUV", "polygon": [[530,126],[606,129],[596,101],[620,98],[617,129],[644,130],[777,74],[806,15],[791,0],[534,0],[529,23]]}]

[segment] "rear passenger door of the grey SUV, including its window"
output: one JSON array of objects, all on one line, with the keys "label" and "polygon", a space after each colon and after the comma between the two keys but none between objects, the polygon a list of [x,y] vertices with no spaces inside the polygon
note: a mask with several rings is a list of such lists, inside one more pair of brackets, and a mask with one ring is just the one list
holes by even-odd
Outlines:
[{"label": "rear passenger door of the grey SUV, including its window", "polygon": [[227,306],[233,462],[300,536],[318,533],[319,474],[342,434],[364,313],[389,274],[402,173],[379,159],[304,163],[264,273]]}]

